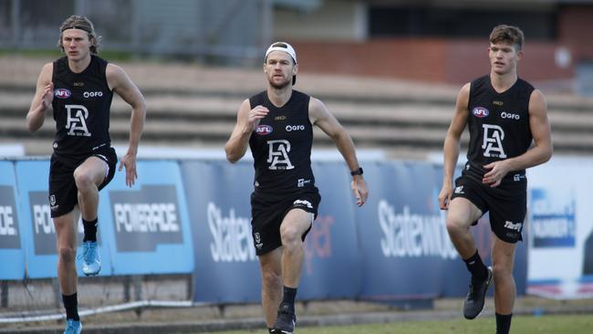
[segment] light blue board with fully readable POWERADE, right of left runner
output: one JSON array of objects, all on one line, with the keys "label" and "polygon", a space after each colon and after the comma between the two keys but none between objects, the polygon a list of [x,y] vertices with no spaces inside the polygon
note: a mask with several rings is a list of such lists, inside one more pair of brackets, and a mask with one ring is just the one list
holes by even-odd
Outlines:
[{"label": "light blue board with fully readable POWERADE, right of left runner", "polygon": [[190,219],[177,162],[138,162],[130,188],[116,172],[100,193],[99,217],[114,275],[191,273]]}]

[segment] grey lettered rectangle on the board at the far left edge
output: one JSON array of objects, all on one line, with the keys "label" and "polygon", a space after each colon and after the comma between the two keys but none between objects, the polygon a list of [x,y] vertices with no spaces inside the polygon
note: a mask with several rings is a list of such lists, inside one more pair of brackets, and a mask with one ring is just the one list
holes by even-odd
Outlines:
[{"label": "grey lettered rectangle on the board at the far left edge", "polygon": [[15,191],[12,186],[0,185],[0,248],[20,249],[20,247]]}]

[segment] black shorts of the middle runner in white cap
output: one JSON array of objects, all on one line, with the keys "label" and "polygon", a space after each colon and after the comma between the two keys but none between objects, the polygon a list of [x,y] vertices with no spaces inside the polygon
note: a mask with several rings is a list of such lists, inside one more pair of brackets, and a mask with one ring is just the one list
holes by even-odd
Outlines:
[{"label": "black shorts of the middle runner in white cap", "polygon": [[[321,202],[321,196],[317,187],[283,195],[252,193],[251,229],[255,254],[261,256],[282,245],[280,224],[288,211],[294,208],[303,209],[312,213],[315,219],[319,202]],[[303,241],[309,230],[303,234]]]}]

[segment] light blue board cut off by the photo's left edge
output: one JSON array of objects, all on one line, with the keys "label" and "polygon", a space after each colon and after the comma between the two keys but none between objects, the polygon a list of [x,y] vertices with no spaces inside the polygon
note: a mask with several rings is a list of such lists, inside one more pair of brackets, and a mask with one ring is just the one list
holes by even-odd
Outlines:
[{"label": "light blue board cut off by the photo's left edge", "polygon": [[0,162],[0,279],[25,277],[26,238],[21,224],[14,164]]}]

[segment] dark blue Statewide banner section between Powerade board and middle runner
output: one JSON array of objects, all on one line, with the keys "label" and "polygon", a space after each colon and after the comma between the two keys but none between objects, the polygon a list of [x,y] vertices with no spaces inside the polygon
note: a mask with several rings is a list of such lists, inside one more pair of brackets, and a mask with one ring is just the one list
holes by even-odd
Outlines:
[{"label": "dark blue Statewide banner section between Powerade board and middle runner", "polygon": [[251,235],[253,166],[188,161],[181,168],[192,218],[193,300],[261,300],[261,274]]}]

